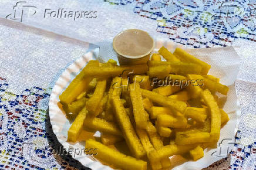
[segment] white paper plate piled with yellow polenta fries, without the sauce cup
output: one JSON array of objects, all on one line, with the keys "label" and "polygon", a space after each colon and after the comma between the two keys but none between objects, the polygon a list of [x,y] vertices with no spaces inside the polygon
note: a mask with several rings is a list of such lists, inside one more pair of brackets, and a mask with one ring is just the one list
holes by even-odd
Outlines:
[{"label": "white paper plate piled with yellow polenta fries, without the sauce cup", "polygon": [[156,41],[145,64],[80,57],[50,96],[60,144],[91,169],[201,169],[227,157],[216,153],[234,147],[237,63],[221,67],[207,50]]}]

